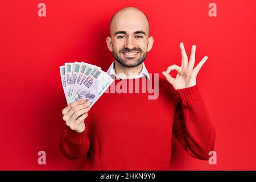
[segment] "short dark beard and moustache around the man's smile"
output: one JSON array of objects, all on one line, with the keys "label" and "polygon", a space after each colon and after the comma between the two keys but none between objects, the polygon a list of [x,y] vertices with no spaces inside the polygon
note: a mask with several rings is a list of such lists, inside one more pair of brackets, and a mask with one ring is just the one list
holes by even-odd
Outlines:
[{"label": "short dark beard and moustache around the man's smile", "polygon": [[118,56],[117,52],[115,52],[115,51],[113,51],[113,56],[114,56],[115,60],[117,60],[118,63],[122,64],[123,67],[127,67],[127,68],[137,67],[138,65],[142,64],[144,60],[146,60],[147,52],[142,52],[142,50],[140,48],[135,48],[135,49],[131,49],[131,50],[125,48],[125,49],[121,49],[120,51],[118,51],[118,53],[122,54],[123,52],[131,52],[131,51],[139,51],[139,53],[141,53],[141,57],[139,57],[139,59],[136,60],[134,64],[125,63],[125,61],[123,61],[121,56]]}]

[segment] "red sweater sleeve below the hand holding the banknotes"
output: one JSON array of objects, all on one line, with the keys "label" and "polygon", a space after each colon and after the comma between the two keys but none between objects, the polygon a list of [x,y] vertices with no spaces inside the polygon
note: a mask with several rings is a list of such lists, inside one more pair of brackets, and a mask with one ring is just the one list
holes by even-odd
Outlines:
[{"label": "red sweater sleeve below the hand holding the banknotes", "polygon": [[90,141],[88,138],[87,126],[85,127],[84,133],[81,134],[71,130],[68,126],[65,126],[65,129],[60,136],[59,148],[66,158],[69,160],[82,158],[87,155],[89,147]]}]

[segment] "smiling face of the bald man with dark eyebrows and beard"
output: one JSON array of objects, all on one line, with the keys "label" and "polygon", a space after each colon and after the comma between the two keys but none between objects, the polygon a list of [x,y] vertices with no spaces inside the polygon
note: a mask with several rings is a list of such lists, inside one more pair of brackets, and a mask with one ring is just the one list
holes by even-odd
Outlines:
[{"label": "smiling face of the bald man with dark eyebrows and beard", "polygon": [[137,67],[146,59],[151,49],[148,50],[148,29],[146,16],[141,12],[126,11],[115,15],[110,26],[109,46],[118,63]]}]

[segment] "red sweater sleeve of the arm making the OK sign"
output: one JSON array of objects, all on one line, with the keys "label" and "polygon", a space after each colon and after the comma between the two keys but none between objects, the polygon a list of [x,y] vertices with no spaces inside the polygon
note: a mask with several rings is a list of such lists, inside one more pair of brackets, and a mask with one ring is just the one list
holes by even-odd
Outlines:
[{"label": "red sweater sleeve of the arm making the OK sign", "polygon": [[181,100],[175,110],[173,133],[189,155],[208,160],[209,151],[214,150],[215,130],[198,86],[177,89],[176,93]]}]

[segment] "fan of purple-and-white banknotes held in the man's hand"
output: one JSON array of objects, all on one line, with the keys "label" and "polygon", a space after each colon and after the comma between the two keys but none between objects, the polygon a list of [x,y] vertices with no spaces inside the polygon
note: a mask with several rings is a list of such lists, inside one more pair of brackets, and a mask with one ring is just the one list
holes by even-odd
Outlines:
[{"label": "fan of purple-and-white banknotes held in the man's hand", "polygon": [[60,66],[60,76],[67,104],[85,98],[89,107],[114,81],[100,67],[84,62],[65,63]]}]

